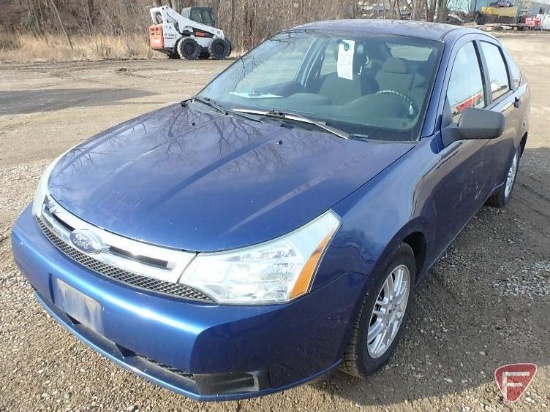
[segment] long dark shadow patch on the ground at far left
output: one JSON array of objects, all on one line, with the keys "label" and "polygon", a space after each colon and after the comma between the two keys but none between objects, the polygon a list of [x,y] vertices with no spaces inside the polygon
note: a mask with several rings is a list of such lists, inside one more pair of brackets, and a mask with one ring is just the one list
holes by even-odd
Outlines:
[{"label": "long dark shadow patch on the ground at far left", "polygon": [[13,90],[0,93],[0,115],[51,112],[70,107],[128,104],[156,93],[135,89]]}]

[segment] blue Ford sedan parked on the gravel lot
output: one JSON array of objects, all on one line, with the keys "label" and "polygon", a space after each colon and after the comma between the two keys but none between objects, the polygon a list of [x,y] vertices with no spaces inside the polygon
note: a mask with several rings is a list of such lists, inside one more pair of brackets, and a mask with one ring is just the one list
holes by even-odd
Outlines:
[{"label": "blue Ford sedan parked on the gravel lot", "polygon": [[13,253],[70,332],[194,399],[366,377],[422,276],[508,202],[529,100],[474,29],[299,26],[61,155]]}]

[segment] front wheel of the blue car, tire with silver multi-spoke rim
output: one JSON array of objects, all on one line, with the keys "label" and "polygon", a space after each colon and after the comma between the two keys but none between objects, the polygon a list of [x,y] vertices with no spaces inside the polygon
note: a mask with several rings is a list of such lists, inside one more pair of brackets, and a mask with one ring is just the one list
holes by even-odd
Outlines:
[{"label": "front wheel of the blue car, tire with silver multi-spoke rim", "polygon": [[411,247],[405,243],[396,247],[382,273],[363,300],[341,367],[343,372],[360,378],[372,375],[388,362],[405,329],[416,281]]}]

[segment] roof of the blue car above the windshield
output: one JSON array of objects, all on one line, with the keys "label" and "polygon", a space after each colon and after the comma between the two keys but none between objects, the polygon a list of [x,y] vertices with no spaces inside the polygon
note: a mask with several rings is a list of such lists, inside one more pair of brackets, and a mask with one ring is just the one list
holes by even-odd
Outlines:
[{"label": "roof of the blue car above the windshield", "polygon": [[[297,26],[294,29],[319,30],[326,32],[380,33],[446,41],[465,34],[484,33],[474,28],[452,26],[442,23],[428,23],[411,20],[326,20]],[[452,36],[447,36],[452,32]],[[447,38],[447,39],[446,39]]]}]

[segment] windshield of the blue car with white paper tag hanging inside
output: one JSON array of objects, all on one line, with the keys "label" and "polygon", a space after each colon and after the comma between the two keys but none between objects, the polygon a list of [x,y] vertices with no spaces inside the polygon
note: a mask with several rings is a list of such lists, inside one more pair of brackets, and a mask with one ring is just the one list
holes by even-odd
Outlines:
[{"label": "windshield of the blue car with white paper tag hanging inside", "polygon": [[352,137],[418,138],[441,43],[380,34],[277,34],[199,96],[228,110],[307,116]]}]

